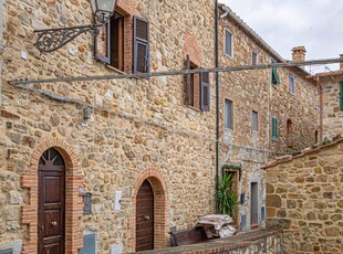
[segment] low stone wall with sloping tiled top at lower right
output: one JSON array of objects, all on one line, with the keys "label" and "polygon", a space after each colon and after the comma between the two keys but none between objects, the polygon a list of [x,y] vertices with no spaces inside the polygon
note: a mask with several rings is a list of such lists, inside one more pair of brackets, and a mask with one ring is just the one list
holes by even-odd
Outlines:
[{"label": "low stone wall with sloping tiled top at lower right", "polygon": [[343,139],[266,167],[267,226],[283,229],[284,253],[343,250]]}]

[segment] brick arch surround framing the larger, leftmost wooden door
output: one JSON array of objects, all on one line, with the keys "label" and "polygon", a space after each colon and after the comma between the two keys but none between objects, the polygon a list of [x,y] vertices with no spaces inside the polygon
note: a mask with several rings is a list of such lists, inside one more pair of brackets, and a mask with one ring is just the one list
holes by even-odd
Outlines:
[{"label": "brick arch surround framing the larger, leftmost wooden door", "polygon": [[38,168],[43,152],[56,149],[65,162],[65,253],[77,253],[82,247],[82,231],[77,226],[83,213],[83,200],[79,188],[83,186],[84,176],[80,169],[76,155],[69,144],[60,138],[51,138],[40,142],[31,156],[29,168],[21,177],[22,188],[28,188],[29,203],[22,207],[22,224],[29,229],[28,239],[23,243],[23,253],[38,253]]}]

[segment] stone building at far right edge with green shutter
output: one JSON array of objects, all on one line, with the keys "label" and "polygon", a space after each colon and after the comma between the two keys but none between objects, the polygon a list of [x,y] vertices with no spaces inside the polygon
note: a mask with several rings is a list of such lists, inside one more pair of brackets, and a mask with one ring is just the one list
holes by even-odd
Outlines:
[{"label": "stone building at far right edge with green shutter", "polygon": [[343,135],[343,64],[339,71],[316,73],[309,78],[315,81],[320,88],[319,139]]}]

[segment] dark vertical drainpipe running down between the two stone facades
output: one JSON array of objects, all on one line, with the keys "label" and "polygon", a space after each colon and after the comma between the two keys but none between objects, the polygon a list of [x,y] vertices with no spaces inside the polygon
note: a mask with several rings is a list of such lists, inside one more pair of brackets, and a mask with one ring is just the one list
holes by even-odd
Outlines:
[{"label": "dark vertical drainpipe running down between the two stone facades", "polygon": [[[215,52],[216,52],[216,67],[219,67],[219,10],[218,0],[216,0],[215,10]],[[219,187],[219,72],[216,72],[216,194]],[[216,200],[216,199],[215,199]],[[216,212],[218,212],[216,202]]]}]

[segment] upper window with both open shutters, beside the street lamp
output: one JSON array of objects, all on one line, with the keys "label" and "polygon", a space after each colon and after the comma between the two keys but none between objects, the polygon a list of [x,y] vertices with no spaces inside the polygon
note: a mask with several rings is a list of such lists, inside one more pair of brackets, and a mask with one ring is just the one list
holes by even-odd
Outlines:
[{"label": "upper window with both open shutters, beside the street lamp", "polygon": [[[104,25],[100,34],[95,38],[94,54],[95,59],[104,62],[119,71],[124,71],[126,62],[133,62],[134,73],[149,72],[149,23],[134,17],[133,34],[126,34],[124,31],[124,22],[128,18],[124,18],[115,12],[110,21]],[[125,57],[125,41],[134,39],[133,60]],[[125,47],[125,51],[127,49]]]}]

